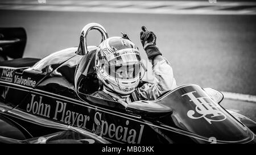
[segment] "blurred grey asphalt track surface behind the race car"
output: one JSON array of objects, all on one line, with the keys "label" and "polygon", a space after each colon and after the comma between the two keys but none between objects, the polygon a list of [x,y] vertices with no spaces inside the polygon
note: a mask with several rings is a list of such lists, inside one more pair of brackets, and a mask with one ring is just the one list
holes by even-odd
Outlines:
[{"label": "blurred grey asphalt track surface behind the race car", "polygon": [[[157,44],[172,64],[177,85],[196,83],[220,91],[256,95],[255,15],[161,15],[100,12],[0,10],[1,27],[24,27],[24,57],[42,58],[79,44],[82,27],[100,23],[109,36],[125,32],[146,54],[139,41],[141,26],[154,31]],[[88,35],[89,45],[100,34]],[[256,120],[256,104],[224,100],[222,106]]]}]

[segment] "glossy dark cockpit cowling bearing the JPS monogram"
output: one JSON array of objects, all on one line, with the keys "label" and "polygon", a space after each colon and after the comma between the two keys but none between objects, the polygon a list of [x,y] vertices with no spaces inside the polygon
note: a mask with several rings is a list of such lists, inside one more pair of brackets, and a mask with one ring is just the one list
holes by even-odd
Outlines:
[{"label": "glossy dark cockpit cowling bearing the JPS monogram", "polygon": [[177,127],[204,139],[220,143],[251,140],[251,132],[245,125],[214,102],[200,86],[180,86],[156,102],[172,108],[171,119]]}]

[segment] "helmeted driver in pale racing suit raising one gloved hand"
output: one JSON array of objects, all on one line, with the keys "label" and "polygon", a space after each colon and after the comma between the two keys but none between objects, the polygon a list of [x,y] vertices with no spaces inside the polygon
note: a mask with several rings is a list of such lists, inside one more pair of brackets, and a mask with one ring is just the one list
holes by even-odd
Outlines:
[{"label": "helmeted driver in pale racing suit raising one gloved hand", "polygon": [[136,100],[154,100],[166,91],[176,87],[176,81],[168,62],[156,47],[156,36],[142,27],[141,43],[152,62],[155,83],[141,84],[141,55],[137,46],[127,35],[110,37],[99,45],[96,51],[95,69],[103,85],[102,91],[92,95],[114,100],[124,106]]}]

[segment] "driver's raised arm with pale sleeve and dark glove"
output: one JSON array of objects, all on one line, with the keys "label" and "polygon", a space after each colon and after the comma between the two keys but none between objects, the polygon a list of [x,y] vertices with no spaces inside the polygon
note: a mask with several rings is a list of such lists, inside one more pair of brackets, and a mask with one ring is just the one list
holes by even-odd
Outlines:
[{"label": "driver's raised arm with pale sleeve and dark glove", "polygon": [[170,62],[162,56],[162,53],[156,47],[155,34],[148,31],[146,27],[142,27],[142,30],[141,42],[148,59],[152,62],[155,83],[152,85],[146,83],[137,89],[137,91],[143,98],[154,100],[166,91],[174,89],[176,87],[176,81]]}]

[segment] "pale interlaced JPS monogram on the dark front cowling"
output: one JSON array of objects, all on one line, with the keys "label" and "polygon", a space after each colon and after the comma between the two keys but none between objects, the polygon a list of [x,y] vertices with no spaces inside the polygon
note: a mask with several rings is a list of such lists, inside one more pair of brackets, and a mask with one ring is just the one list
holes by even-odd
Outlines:
[{"label": "pale interlaced JPS monogram on the dark front cowling", "polygon": [[187,115],[189,118],[204,118],[210,124],[212,124],[212,121],[220,122],[226,119],[226,115],[220,110],[218,104],[214,104],[213,102],[207,102],[207,100],[209,100],[209,98],[207,97],[196,98],[193,93],[196,93],[196,91],[191,91],[190,93],[181,95],[181,97],[187,95],[190,98],[189,101],[193,104],[196,104],[195,110],[188,111]]}]

